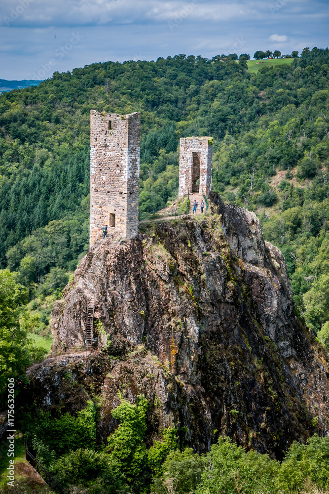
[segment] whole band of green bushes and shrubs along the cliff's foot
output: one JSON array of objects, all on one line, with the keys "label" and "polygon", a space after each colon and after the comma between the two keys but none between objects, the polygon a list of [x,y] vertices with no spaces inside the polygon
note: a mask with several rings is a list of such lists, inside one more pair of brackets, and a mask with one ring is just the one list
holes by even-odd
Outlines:
[{"label": "whole band of green bushes and shrubs along the cliff's foot", "polygon": [[32,427],[38,460],[65,489],[87,488],[91,494],[316,494],[316,489],[329,490],[329,437],[314,435],[306,444],[292,443],[281,463],[267,454],[246,453],[224,437],[204,455],[191,448],[180,451],[174,427],[163,430],[147,447],[146,398],[140,395],[135,405],[121,395],[120,399],[112,411],[118,426],[107,447],[96,444],[91,401],[76,418],[68,413],[51,418],[45,413]]}]

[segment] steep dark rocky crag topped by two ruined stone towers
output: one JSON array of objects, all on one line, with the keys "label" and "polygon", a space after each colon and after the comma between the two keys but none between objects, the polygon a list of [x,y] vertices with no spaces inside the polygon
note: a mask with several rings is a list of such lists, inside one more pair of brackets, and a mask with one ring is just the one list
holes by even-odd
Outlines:
[{"label": "steep dark rocky crag topped by two ruined stone towers", "polygon": [[214,193],[210,203],[205,217],[92,247],[52,313],[55,346],[79,347],[94,299],[92,352],[30,369],[27,401],[74,413],[102,398],[102,438],[118,393],[142,393],[150,441],[176,424],[199,452],[224,434],[280,458],[293,440],[328,433],[328,354],[293,307],[282,253],[254,213]]}]

